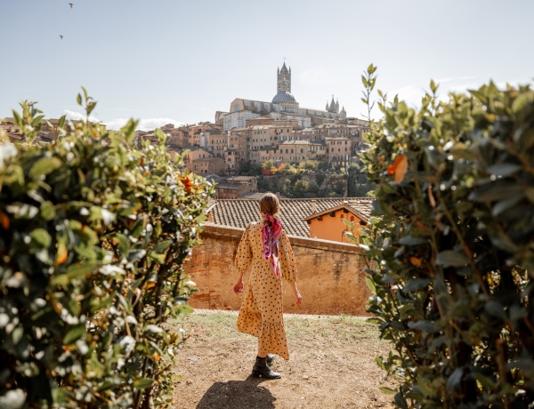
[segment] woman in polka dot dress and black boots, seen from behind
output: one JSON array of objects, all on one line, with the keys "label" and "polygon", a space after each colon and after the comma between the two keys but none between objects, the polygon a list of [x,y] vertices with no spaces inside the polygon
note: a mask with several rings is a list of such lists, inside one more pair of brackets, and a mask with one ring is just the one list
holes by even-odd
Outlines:
[{"label": "woman in polka dot dress and black boots, seen from behind", "polygon": [[234,285],[236,294],[243,292],[243,273],[252,266],[245,300],[239,309],[238,330],[258,339],[258,355],[253,375],[266,379],[279,379],[271,370],[274,355],[289,359],[286,331],[282,312],[281,277],[291,284],[295,305],[303,297],[296,288],[296,263],[287,234],[279,219],[279,199],[266,193],[260,199],[262,221],[248,224],[236,254],[235,265],[239,278]]}]

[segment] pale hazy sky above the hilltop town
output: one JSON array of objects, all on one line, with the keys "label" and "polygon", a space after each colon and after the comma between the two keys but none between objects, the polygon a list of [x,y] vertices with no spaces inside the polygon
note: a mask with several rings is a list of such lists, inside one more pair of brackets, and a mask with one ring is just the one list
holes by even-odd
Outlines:
[{"label": "pale hazy sky above the hilltop town", "polygon": [[84,86],[110,128],[214,122],[234,98],[271,101],[284,58],[301,107],[334,95],[358,117],[370,63],[414,106],[431,79],[447,93],[534,78],[530,0],[0,0],[0,16],[0,117],[21,100],[76,117]]}]

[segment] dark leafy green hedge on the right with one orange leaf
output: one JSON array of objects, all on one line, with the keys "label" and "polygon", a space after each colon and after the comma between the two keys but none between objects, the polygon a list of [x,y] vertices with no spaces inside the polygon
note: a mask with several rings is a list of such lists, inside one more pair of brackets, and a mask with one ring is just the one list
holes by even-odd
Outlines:
[{"label": "dark leafy green hedge on the right with one orange leaf", "polygon": [[368,311],[399,407],[532,407],[534,92],[395,99],[367,135]]}]

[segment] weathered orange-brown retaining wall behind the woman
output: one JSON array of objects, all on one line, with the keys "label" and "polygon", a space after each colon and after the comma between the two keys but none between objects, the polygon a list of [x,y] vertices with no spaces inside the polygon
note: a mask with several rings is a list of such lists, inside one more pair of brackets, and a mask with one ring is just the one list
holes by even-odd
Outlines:
[{"label": "weathered orange-brown retaining wall behind the woman", "polygon": [[[243,295],[232,291],[239,273],[234,255],[244,229],[206,224],[203,244],[193,248],[184,265],[199,292],[189,303],[196,309],[239,309]],[[297,284],[303,305],[293,305],[294,296],[284,282],[284,312],[300,314],[364,316],[371,295],[360,249],[328,240],[290,236],[298,269]],[[247,274],[244,277],[247,283]]]}]

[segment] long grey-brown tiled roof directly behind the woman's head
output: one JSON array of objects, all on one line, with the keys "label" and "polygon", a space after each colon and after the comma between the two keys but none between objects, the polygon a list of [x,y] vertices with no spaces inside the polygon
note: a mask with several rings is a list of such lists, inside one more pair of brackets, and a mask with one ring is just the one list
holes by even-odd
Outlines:
[{"label": "long grey-brown tiled roof directly behind the woman's head", "polygon": [[[304,219],[311,214],[325,212],[346,202],[368,218],[374,199],[371,197],[318,197],[315,199],[280,198],[279,200],[279,218],[287,234],[310,237],[310,228]],[[315,201],[314,211],[312,211],[313,200]],[[208,214],[215,224],[243,229],[250,221],[257,221],[260,218],[258,201],[247,198],[217,200],[208,210]]]}]

